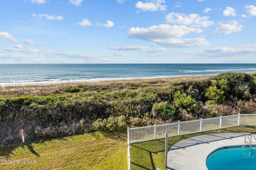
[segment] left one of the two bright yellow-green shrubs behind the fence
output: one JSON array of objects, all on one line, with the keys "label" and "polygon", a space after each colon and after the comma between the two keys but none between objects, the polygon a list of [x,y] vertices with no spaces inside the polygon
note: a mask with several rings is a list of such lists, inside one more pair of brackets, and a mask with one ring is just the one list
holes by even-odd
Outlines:
[{"label": "left one of the two bright yellow-green shrubs behind the fence", "polygon": [[174,94],[174,105],[176,107],[193,110],[196,108],[196,100],[190,95],[181,94],[180,91],[177,91]]}]

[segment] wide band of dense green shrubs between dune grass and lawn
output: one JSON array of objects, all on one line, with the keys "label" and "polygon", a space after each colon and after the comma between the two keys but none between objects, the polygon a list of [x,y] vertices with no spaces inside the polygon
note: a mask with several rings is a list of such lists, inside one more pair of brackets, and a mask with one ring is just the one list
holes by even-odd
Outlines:
[{"label": "wide band of dense green shrubs between dune grass and lawn", "polygon": [[5,96],[0,98],[2,145],[19,142],[19,129],[27,132],[27,140],[40,141],[93,131],[123,131],[127,126],[254,113],[256,108],[256,74],[90,86],[79,84],[53,94],[42,95],[41,91],[22,97],[3,95],[5,90],[1,90]]}]

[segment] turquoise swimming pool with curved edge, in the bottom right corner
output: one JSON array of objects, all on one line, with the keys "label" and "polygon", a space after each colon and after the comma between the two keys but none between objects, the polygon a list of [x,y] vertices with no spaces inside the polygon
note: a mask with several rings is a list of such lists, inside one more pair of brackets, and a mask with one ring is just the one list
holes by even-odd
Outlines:
[{"label": "turquoise swimming pool with curved edge, in the bottom right corner", "polygon": [[255,170],[256,146],[218,148],[207,157],[206,166],[209,170]]}]

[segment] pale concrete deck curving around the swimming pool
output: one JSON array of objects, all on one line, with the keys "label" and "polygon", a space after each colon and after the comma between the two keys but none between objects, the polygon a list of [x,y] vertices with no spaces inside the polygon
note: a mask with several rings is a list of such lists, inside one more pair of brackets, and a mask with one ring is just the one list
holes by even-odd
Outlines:
[{"label": "pale concrete deck curving around the swimming pool", "polygon": [[[175,143],[167,155],[167,169],[207,170],[206,158],[215,149],[224,146],[249,145],[244,135],[250,133],[215,133],[188,138]],[[255,139],[252,140],[255,145]]]}]

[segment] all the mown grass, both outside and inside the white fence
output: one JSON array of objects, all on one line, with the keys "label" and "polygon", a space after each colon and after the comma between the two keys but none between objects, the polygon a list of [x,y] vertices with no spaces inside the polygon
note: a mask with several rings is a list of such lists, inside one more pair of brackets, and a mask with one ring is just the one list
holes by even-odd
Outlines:
[{"label": "all the mown grass, both outside and inside the white fence", "polygon": [[[234,127],[223,132],[256,133],[255,127]],[[169,148],[180,140],[210,131],[169,138]],[[126,169],[125,133],[89,133],[29,143],[24,146],[0,147],[1,160],[36,160],[36,165],[1,165],[0,169]],[[135,143],[131,146],[131,169],[165,169],[164,140]]]}]

